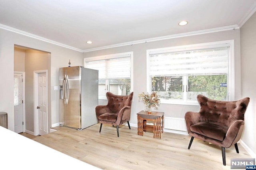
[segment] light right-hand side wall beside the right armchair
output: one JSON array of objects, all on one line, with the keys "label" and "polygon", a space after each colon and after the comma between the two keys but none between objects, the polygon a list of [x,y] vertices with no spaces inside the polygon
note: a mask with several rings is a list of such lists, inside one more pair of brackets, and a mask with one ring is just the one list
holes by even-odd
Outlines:
[{"label": "light right-hand side wall beside the right armchair", "polygon": [[250,97],[242,141],[256,158],[256,13],[241,28],[241,95]]}]

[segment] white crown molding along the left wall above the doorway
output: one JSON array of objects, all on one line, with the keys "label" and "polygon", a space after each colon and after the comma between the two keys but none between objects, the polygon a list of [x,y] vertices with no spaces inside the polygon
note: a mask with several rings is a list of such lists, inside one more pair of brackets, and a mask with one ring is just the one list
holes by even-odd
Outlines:
[{"label": "white crown molding along the left wall above the doorway", "polygon": [[9,27],[7,25],[3,25],[3,24],[0,24],[0,29],[5,29],[7,31],[11,31],[11,32],[14,32],[14,33],[18,33],[20,35],[24,35],[26,37],[30,37],[30,38],[34,38],[34,39],[38,39],[40,41],[44,41],[44,42],[47,42],[47,43],[51,43],[51,44],[54,44],[54,45],[58,45],[60,47],[64,47],[64,48],[67,48],[67,49],[72,49],[74,51],[79,51],[79,52],[83,52],[82,49],[78,49],[78,48],[75,48],[75,47],[71,47],[69,45],[66,45],[66,44],[62,44],[62,43],[58,43],[56,41],[52,41],[50,39],[46,39],[44,37],[40,37],[38,35],[34,35],[34,34],[31,34],[31,33],[28,33],[28,32],[25,32],[25,31],[22,31],[20,29],[16,29],[16,28],[13,28],[13,27]]}]

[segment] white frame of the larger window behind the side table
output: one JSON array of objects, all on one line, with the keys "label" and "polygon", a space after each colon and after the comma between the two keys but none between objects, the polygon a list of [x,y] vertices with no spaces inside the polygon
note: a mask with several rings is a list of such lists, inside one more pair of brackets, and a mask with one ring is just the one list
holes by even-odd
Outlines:
[{"label": "white frame of the larger window behind the side table", "polygon": [[[150,55],[151,54],[160,54],[160,53],[172,53],[172,52],[182,52],[189,50],[200,50],[200,49],[210,49],[210,48],[218,48],[218,47],[228,47],[228,86],[227,86],[227,95],[228,100],[234,100],[235,95],[235,70],[234,70],[234,40],[226,40],[226,41],[215,41],[209,43],[198,43],[191,45],[181,45],[181,46],[173,46],[173,47],[164,47],[157,49],[148,49],[146,50],[146,85],[147,92],[151,93],[151,77],[150,77]],[[179,76],[179,75],[177,75]],[[184,76],[182,76],[183,85],[184,85]],[[185,78],[186,79],[186,78]],[[187,82],[185,82],[187,84]],[[183,92],[183,100],[175,100],[175,99],[160,99],[162,104],[179,104],[179,105],[198,105],[197,101],[188,101],[186,98],[187,93]]]}]

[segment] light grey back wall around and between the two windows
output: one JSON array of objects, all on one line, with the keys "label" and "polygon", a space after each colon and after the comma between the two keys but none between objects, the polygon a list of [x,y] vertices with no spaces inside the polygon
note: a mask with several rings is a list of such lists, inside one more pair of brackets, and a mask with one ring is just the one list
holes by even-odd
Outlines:
[{"label": "light grey back wall around and between the two windows", "polygon": [[[213,41],[224,41],[234,39],[235,45],[235,99],[240,99],[240,30],[222,31],[218,33],[209,33],[204,35],[195,35],[190,37],[182,37],[176,39],[168,39],[162,41],[154,41],[142,44],[134,44],[124,47],[116,47],[99,51],[84,53],[84,58],[95,57],[100,55],[108,55],[114,53],[124,53],[133,51],[133,68],[134,68],[134,100],[132,103],[132,112],[130,123],[137,124],[136,113],[144,109],[142,102],[138,101],[138,94],[146,92],[146,50],[163,47],[172,47],[179,45],[190,45],[196,43],[206,43]],[[100,101],[105,104],[106,101]],[[174,104],[160,104],[158,111],[163,111],[165,115],[174,117],[184,117],[186,111],[198,111],[199,106],[186,106]],[[153,109],[154,111],[154,109]]]}]

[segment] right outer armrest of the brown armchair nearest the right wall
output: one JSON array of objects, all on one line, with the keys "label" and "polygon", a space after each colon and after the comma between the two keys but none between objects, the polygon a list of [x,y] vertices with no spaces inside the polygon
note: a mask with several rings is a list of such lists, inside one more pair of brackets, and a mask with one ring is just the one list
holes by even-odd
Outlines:
[{"label": "right outer armrest of the brown armchair nearest the right wall", "polygon": [[231,145],[237,143],[239,141],[239,139],[241,138],[243,129],[244,129],[244,121],[243,120],[234,121],[228,128],[226,137],[223,140],[224,147],[229,148]]}]

